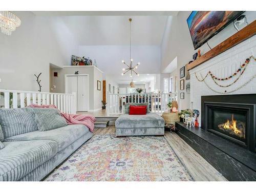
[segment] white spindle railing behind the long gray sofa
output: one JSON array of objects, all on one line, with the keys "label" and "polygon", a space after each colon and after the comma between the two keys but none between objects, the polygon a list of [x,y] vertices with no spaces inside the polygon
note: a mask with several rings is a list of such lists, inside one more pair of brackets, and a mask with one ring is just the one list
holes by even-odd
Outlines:
[{"label": "white spindle railing behind the long gray sofa", "polygon": [[24,108],[30,104],[54,104],[62,113],[76,114],[76,93],[0,90],[0,108]]}]

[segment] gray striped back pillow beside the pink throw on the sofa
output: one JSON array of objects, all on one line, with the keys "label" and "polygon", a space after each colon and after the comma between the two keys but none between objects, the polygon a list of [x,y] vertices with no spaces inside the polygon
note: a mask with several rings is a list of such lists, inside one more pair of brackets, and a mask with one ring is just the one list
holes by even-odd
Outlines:
[{"label": "gray striped back pillow beside the pink throw on the sofa", "polygon": [[35,121],[39,131],[55,130],[67,126],[66,119],[61,117],[58,109],[32,108],[35,112]]}]

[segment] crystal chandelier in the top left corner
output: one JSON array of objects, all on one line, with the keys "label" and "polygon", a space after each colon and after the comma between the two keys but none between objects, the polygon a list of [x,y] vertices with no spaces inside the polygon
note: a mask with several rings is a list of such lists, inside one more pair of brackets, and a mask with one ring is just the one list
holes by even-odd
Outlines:
[{"label": "crystal chandelier in the top left corner", "polygon": [[5,35],[11,35],[12,31],[15,31],[16,27],[19,27],[21,23],[21,20],[14,13],[0,11],[0,27]]}]

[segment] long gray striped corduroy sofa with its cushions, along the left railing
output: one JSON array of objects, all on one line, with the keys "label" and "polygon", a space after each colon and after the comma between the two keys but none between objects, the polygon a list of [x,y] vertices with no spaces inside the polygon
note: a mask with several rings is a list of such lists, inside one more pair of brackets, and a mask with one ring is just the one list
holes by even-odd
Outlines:
[{"label": "long gray striped corduroy sofa with its cushions, along the left railing", "polygon": [[92,136],[57,109],[0,109],[0,181],[40,181]]}]

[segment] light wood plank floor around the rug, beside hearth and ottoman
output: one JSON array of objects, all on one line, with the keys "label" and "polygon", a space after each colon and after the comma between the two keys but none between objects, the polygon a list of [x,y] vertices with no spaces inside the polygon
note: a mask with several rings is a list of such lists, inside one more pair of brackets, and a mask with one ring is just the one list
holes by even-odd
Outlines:
[{"label": "light wood plank floor around the rug, beside hearth and ottoman", "polygon": [[[94,134],[115,134],[115,126],[96,128]],[[227,181],[176,133],[165,132],[164,137],[196,181]]]}]

